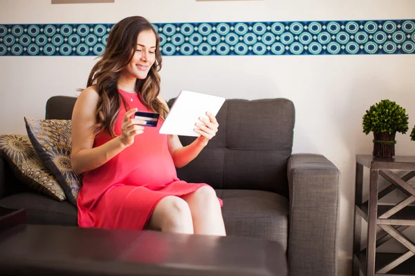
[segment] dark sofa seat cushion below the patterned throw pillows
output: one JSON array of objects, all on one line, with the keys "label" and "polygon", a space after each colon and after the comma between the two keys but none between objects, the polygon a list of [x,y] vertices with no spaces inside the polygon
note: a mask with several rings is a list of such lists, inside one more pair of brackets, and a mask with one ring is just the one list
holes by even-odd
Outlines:
[{"label": "dark sofa seat cushion below the patterned throw pillows", "polygon": [[77,208],[38,193],[18,193],[0,199],[0,206],[28,211],[28,224],[77,226]]}]

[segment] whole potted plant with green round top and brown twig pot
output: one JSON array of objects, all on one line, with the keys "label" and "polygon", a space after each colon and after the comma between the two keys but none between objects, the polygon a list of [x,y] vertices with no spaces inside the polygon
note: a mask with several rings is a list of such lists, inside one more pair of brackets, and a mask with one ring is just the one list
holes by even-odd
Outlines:
[{"label": "whole potted plant with green round top and brown twig pot", "polygon": [[363,116],[363,132],[374,132],[374,152],[376,157],[395,155],[396,132],[405,134],[408,130],[408,115],[394,101],[384,99],[366,110]]}]

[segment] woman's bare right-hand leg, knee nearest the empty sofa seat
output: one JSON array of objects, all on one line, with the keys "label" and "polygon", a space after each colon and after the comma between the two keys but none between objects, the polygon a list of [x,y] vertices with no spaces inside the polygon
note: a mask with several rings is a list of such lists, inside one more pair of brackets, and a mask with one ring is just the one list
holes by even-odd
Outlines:
[{"label": "woman's bare right-hand leg, knee nearest the empty sofa seat", "polygon": [[212,187],[203,186],[182,198],[190,207],[195,234],[226,235],[221,205]]}]

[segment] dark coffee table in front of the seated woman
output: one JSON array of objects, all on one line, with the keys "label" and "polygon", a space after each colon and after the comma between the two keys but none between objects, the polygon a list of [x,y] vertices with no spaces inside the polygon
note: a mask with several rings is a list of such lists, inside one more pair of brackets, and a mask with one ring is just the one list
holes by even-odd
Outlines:
[{"label": "dark coffee table in front of the seated woman", "polygon": [[266,239],[27,224],[0,231],[0,275],[288,275],[282,246]]}]

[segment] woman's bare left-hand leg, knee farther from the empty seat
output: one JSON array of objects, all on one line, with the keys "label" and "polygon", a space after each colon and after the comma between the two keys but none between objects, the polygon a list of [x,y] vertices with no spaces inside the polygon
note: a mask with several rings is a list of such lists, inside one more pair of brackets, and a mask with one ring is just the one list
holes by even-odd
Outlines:
[{"label": "woman's bare left-hand leg, knee farther from the empty seat", "polygon": [[180,197],[164,197],[158,201],[146,228],[163,232],[193,234],[190,208],[186,201]]}]

